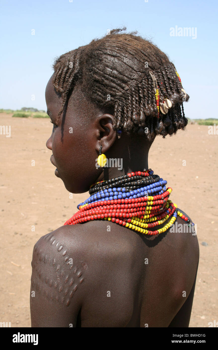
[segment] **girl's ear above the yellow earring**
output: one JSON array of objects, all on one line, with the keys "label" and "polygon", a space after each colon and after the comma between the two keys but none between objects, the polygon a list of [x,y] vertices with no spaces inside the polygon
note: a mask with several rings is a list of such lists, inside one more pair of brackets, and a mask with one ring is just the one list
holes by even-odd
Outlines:
[{"label": "girl's ear above the yellow earring", "polygon": [[97,131],[96,138],[96,151],[99,152],[100,146],[102,146],[101,153],[105,153],[111,148],[115,140],[117,139],[117,132],[113,130],[114,117],[112,114],[102,114],[95,119],[94,127]]}]

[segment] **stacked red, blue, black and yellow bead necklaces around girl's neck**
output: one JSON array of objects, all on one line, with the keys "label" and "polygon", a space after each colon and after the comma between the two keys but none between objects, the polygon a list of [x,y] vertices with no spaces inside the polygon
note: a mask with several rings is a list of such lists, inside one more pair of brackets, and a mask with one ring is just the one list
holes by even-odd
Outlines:
[{"label": "stacked red, blue, black and yellow bead necklaces around girl's neck", "polygon": [[[64,225],[104,219],[145,235],[157,235],[166,232],[177,215],[190,224],[169,200],[172,189],[166,188],[166,184],[152,169],[96,182],[90,186],[90,197],[77,205],[79,211]],[[168,219],[166,225],[158,229]],[[154,227],[155,231],[150,230]]]}]

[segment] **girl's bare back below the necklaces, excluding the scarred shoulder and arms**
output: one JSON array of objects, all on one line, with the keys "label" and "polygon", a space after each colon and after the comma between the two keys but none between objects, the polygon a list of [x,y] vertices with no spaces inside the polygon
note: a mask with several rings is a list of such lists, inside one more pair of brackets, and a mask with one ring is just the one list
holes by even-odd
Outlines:
[{"label": "girl's bare back below the necklaces, excluding the scarred shoulder and arms", "polygon": [[82,327],[168,327],[195,281],[197,237],[167,232],[147,238],[113,223],[107,232],[107,223],[98,224],[98,264]]}]

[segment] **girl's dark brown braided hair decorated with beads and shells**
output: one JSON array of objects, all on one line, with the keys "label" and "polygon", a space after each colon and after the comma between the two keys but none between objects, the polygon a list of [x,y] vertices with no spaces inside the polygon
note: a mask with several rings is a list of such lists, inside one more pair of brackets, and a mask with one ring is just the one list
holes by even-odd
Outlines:
[{"label": "girl's dark brown braided hair decorated with beads and shells", "polygon": [[[151,140],[155,135],[165,137],[184,129],[188,120],[183,101],[189,96],[174,64],[152,42],[136,32],[119,33],[123,30],[126,28],[113,29],[110,35],[55,60],[53,85],[62,96],[58,120],[78,81],[93,104],[113,111],[114,130],[144,134]],[[167,113],[159,109],[156,91],[160,105],[166,99],[171,102]]]}]

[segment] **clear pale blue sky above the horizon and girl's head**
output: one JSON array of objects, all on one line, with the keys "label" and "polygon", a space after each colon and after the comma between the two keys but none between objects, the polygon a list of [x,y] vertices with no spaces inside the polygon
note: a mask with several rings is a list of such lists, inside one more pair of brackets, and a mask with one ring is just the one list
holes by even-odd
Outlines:
[{"label": "clear pale blue sky above the horizon and girl's head", "polygon": [[[54,58],[126,26],[152,39],[174,62],[190,95],[185,115],[218,118],[217,1],[70,1],[2,1],[0,108],[46,110],[44,91]],[[193,34],[170,36],[176,26],[191,27]]]}]

